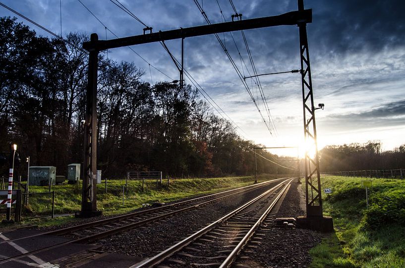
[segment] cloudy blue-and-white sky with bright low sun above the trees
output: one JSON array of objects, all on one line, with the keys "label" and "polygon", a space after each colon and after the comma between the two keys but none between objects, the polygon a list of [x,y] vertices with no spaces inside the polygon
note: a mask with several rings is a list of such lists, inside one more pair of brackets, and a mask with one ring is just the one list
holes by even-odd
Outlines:
[{"label": "cloudy blue-and-white sky with bright low sun above the trees", "polygon": [[[96,15],[106,29],[88,10]],[[145,27],[117,7],[116,0],[0,0],[52,32],[97,33],[99,39],[139,35]],[[205,25],[194,0],[119,0],[153,31]],[[231,20],[229,0],[198,0],[211,23]],[[297,9],[296,0],[233,0],[242,19],[278,15]],[[117,3],[118,4],[118,3]],[[221,9],[220,9],[220,7]],[[384,150],[405,143],[405,10],[404,0],[305,0],[313,9],[307,25],[318,147],[380,140]],[[60,16],[61,14],[61,16]],[[0,16],[16,16],[39,35],[49,34],[0,6]],[[61,23],[61,27],[60,27]],[[61,31],[60,31],[61,28]],[[298,28],[280,26],[244,31],[257,73],[300,68]],[[220,34],[245,76],[253,74],[240,32]],[[233,43],[232,37],[236,43]],[[167,46],[180,60],[179,40]],[[297,146],[303,139],[299,74],[261,76],[275,130],[269,132],[230,60],[215,36],[184,41],[184,68],[238,126],[242,137],[265,146]],[[133,61],[148,82],[178,79],[178,71],[162,46],[145,44],[109,51],[116,61]],[[240,56],[239,56],[239,53]],[[244,63],[245,64],[244,64]],[[151,64],[151,67],[149,67]],[[158,71],[159,69],[160,71]],[[259,90],[247,84],[269,121]],[[188,78],[185,82],[191,84]],[[203,98],[203,97],[201,97]],[[208,98],[208,97],[207,97]],[[218,110],[220,110],[217,107]],[[215,111],[215,110],[214,110]],[[218,113],[217,111],[215,111]],[[273,151],[281,155],[293,151]]]}]

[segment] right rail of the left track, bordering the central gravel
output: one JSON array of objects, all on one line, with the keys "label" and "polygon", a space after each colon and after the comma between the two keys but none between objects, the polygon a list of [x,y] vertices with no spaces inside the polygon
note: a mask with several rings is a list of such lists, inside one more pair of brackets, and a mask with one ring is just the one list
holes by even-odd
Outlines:
[{"label": "right rail of the left track, bordering the central gravel", "polygon": [[[284,179],[284,178],[281,178],[281,179]],[[129,229],[132,229],[132,228],[135,228],[135,227],[138,227],[138,226],[141,226],[141,225],[144,225],[144,224],[147,224],[147,223],[150,223],[150,222],[159,220],[159,219],[163,219],[163,218],[169,217],[169,216],[171,216],[171,215],[173,215],[173,214],[177,214],[177,213],[180,213],[180,212],[184,212],[184,211],[187,211],[187,210],[191,210],[191,209],[193,209],[193,208],[198,208],[198,207],[200,207],[200,206],[207,205],[207,204],[213,203],[213,202],[215,202],[215,201],[218,201],[218,200],[221,200],[221,199],[225,199],[225,198],[228,198],[228,197],[231,197],[231,196],[234,196],[234,195],[237,195],[237,194],[246,192],[246,191],[252,191],[252,190],[255,190],[255,189],[257,189],[257,188],[260,188],[261,186],[265,186],[266,184],[270,184],[271,182],[275,182],[275,181],[278,181],[278,180],[281,180],[281,179],[275,179],[275,180],[271,180],[271,181],[267,181],[267,182],[262,182],[262,183],[260,183],[260,184],[262,184],[262,185],[260,185],[259,187],[244,186],[244,187],[241,187],[241,188],[239,188],[239,189],[246,188],[246,187],[251,187],[251,188],[245,189],[245,190],[242,190],[242,191],[239,191],[239,192],[232,193],[232,194],[230,194],[230,195],[228,195],[228,196],[225,196],[225,197],[219,197],[219,198],[216,198],[216,199],[213,199],[213,200],[206,201],[206,202],[204,202],[204,203],[200,203],[200,204],[193,205],[193,206],[190,206],[190,207],[187,207],[187,208],[184,208],[184,209],[180,209],[180,210],[177,210],[177,211],[173,211],[173,212],[170,212],[170,213],[167,213],[167,214],[162,214],[162,215],[158,215],[158,216],[155,216],[155,217],[152,217],[152,218],[140,220],[140,221],[137,221],[137,222],[134,222],[134,223],[130,223],[130,224],[124,225],[124,226],[119,226],[119,227],[116,227],[116,228],[114,228],[114,229],[107,230],[107,231],[104,231],[104,232],[100,232],[100,233],[97,233],[97,234],[93,234],[93,235],[90,235],[90,236],[86,236],[86,237],[83,237],[83,238],[73,239],[73,240],[70,240],[70,241],[66,241],[66,242],[62,242],[62,243],[55,244],[55,245],[53,245],[53,246],[49,246],[49,247],[45,247],[45,248],[42,248],[42,249],[37,249],[37,250],[31,251],[31,252],[23,253],[23,254],[14,256],[14,257],[9,257],[9,258],[6,258],[6,259],[1,260],[1,261],[0,261],[0,264],[7,263],[7,262],[10,262],[10,261],[13,261],[13,260],[17,260],[17,259],[20,259],[20,258],[23,258],[23,257],[26,257],[26,256],[34,255],[34,254],[37,254],[37,253],[40,253],[40,252],[44,252],[44,251],[47,251],[47,250],[51,250],[51,249],[54,249],[54,248],[58,248],[58,247],[61,247],[61,246],[64,246],[64,245],[68,245],[68,244],[71,244],[71,243],[85,243],[85,242],[95,241],[95,240],[97,240],[97,239],[104,238],[104,237],[106,237],[106,236],[112,235],[112,234],[117,233],[117,232],[126,231],[126,230],[129,230]],[[282,182],[282,183],[283,183],[283,182]],[[280,183],[280,184],[282,184],[282,183]],[[278,184],[278,185],[280,185],[280,184]],[[256,184],[255,186],[257,186],[257,185],[258,185],[258,184]],[[276,187],[277,187],[277,186],[276,186]],[[272,189],[274,189],[274,188],[275,188],[275,187],[273,187]],[[232,191],[232,190],[228,190],[228,191]],[[226,191],[226,192],[228,192],[228,191]],[[268,192],[268,191],[267,191],[267,192]],[[215,194],[213,194],[213,195],[215,195]],[[184,201],[182,201],[182,202],[184,202]],[[170,205],[169,205],[169,206],[170,206]],[[161,207],[161,208],[162,208],[162,207]],[[87,223],[86,223],[86,224],[87,224]],[[76,227],[76,226],[72,226],[72,227]],[[69,228],[69,227],[68,227],[68,228]],[[54,232],[54,231],[51,231],[51,232]],[[19,239],[26,239],[26,238],[35,237],[35,236],[44,235],[44,234],[49,235],[50,232],[41,233],[41,234],[36,234],[36,235],[33,235],[33,236],[27,236],[27,237],[23,237],[23,238],[19,238]],[[14,240],[13,240],[13,241],[14,241]],[[12,242],[12,241],[11,241],[11,240],[7,240],[7,241],[5,241],[5,242]]]}]

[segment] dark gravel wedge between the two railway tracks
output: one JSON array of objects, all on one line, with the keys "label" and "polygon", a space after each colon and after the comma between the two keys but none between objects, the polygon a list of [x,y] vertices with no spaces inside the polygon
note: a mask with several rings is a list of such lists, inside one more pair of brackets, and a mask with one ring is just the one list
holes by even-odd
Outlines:
[{"label": "dark gravel wedge between the two railway tracks", "polygon": [[152,225],[102,239],[98,243],[106,252],[119,252],[143,258],[152,257],[270,188],[271,186],[268,186],[265,189],[237,195]]}]

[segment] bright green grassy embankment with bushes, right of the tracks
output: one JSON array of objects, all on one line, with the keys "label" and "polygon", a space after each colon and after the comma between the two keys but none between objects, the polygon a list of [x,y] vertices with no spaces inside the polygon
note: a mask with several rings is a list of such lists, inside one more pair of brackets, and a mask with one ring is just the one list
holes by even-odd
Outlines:
[{"label": "bright green grassy embankment with bushes, right of the tracks", "polygon": [[322,176],[324,214],[335,232],[313,248],[312,268],[405,267],[405,180],[372,178],[369,207],[358,177]]}]

